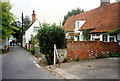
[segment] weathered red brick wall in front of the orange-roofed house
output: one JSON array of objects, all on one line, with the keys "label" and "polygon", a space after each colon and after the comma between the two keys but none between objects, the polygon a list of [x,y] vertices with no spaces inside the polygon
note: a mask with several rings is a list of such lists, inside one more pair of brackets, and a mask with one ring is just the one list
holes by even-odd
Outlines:
[{"label": "weathered red brick wall in front of the orange-roofed house", "polygon": [[109,55],[109,52],[118,52],[117,42],[109,43],[99,40],[67,42],[67,55],[70,60],[97,58],[100,53]]}]

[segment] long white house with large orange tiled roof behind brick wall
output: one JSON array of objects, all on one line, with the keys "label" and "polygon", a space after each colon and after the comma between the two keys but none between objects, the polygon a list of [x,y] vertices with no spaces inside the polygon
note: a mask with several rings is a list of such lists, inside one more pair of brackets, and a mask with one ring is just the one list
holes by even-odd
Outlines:
[{"label": "long white house with large orange tiled roof behind brick wall", "polygon": [[90,41],[117,42],[120,33],[106,33],[120,28],[120,2],[110,4],[110,0],[101,0],[100,7],[69,17],[63,28],[66,38],[74,41],[84,41],[83,31],[90,30]]}]

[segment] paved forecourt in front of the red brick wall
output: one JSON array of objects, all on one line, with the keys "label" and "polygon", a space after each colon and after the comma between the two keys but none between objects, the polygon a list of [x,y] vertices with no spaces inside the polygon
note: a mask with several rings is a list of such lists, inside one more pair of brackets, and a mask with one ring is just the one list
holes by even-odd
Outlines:
[{"label": "paved forecourt in front of the red brick wall", "polygon": [[[91,59],[51,65],[46,69],[58,79],[118,79],[118,58]],[[113,80],[115,81],[115,80]]]}]

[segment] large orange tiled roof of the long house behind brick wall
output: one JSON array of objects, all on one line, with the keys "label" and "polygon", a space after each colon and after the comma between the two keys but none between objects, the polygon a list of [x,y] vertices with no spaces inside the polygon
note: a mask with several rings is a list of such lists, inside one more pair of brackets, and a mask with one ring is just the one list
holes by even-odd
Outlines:
[{"label": "large orange tiled roof of the long house behind brick wall", "polygon": [[102,5],[91,11],[69,17],[63,28],[66,32],[75,29],[75,21],[86,20],[79,30],[94,29],[91,33],[107,32],[120,27],[120,2]]}]

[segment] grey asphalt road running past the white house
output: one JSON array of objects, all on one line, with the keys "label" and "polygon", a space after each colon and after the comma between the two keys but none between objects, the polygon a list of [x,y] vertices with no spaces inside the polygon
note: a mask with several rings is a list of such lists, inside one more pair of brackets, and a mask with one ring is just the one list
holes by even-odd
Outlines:
[{"label": "grey asphalt road running past the white house", "polygon": [[38,59],[24,48],[10,47],[10,52],[2,57],[3,79],[55,79],[46,69],[37,65]]}]

